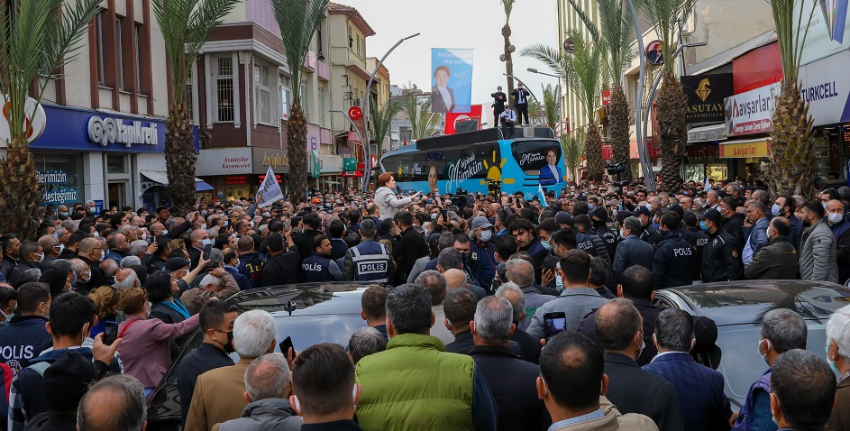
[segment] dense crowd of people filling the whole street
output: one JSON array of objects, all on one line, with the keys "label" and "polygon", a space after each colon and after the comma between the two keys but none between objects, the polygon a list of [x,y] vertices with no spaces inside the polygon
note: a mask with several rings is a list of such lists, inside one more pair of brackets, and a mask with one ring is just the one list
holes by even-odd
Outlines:
[{"label": "dense crowd of people filling the whole street", "polygon": [[[176,370],[189,431],[850,429],[850,306],[827,322],[828,363],[806,351],[819,347],[800,315],[765,314],[752,342],[766,363],[749,366],[767,371],[738,411],[694,359],[715,323],[654,300],[714,281],[844,283],[850,188],[403,195],[391,173],[378,186],[179,215],[47,206],[35,241],[0,236],[0,428],[142,429],[200,328]],[[371,284],[347,346],[275,353],[274,317],[227,300],[330,281]],[[552,335],[544,316],[559,314]]]}]

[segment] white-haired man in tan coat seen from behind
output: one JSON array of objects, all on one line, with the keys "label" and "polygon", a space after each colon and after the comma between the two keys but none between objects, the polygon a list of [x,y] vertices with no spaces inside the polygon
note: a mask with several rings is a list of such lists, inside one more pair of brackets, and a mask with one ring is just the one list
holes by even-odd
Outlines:
[{"label": "white-haired man in tan coat seen from behind", "polygon": [[254,359],[274,352],[276,330],[274,317],[267,311],[251,310],[236,317],[233,347],[239,354],[239,362],[206,371],[197,378],[184,429],[206,431],[215,424],[242,416],[248,405],[242,397],[245,371]]}]

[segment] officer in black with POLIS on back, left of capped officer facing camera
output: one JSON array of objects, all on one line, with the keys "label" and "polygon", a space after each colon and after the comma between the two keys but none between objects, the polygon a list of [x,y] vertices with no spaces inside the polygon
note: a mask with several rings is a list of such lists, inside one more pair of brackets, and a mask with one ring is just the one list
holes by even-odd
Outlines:
[{"label": "officer in black with POLIS on back, left of capped officer facing camera", "polygon": [[653,259],[655,289],[688,286],[693,281],[693,246],[681,236],[681,219],[674,211],[661,216],[661,228],[667,232],[658,244]]}]

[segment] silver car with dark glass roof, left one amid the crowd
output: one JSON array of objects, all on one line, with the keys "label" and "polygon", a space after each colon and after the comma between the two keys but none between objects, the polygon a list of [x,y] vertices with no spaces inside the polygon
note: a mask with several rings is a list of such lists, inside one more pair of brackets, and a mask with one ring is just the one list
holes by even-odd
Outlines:
[{"label": "silver car with dark glass roof, left one amid the crowd", "polygon": [[[271,313],[278,326],[278,343],[287,336],[297,351],[316,343],[348,345],[352,333],[366,322],[360,316],[363,291],[374,284],[354,282],[305,283],[263,289],[244,290],[228,302],[239,312],[262,309]],[[183,358],[204,341],[200,329],[171,363],[148,402],[148,427],[151,430],[177,430],[180,426],[180,396],[177,369]],[[279,348],[275,348],[278,352]],[[238,361],[232,353],[233,361]]]}]

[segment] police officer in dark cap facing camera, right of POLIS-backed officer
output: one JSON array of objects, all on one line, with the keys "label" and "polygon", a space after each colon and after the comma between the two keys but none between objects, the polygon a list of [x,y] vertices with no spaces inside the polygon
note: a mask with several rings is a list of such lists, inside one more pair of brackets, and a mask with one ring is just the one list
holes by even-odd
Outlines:
[{"label": "police officer in dark cap facing camera, right of POLIS-backed officer", "polygon": [[740,280],[744,274],[735,238],[720,229],[722,221],[723,216],[716,209],[699,216],[699,227],[708,234],[708,243],[702,251],[702,280],[707,283]]}]

